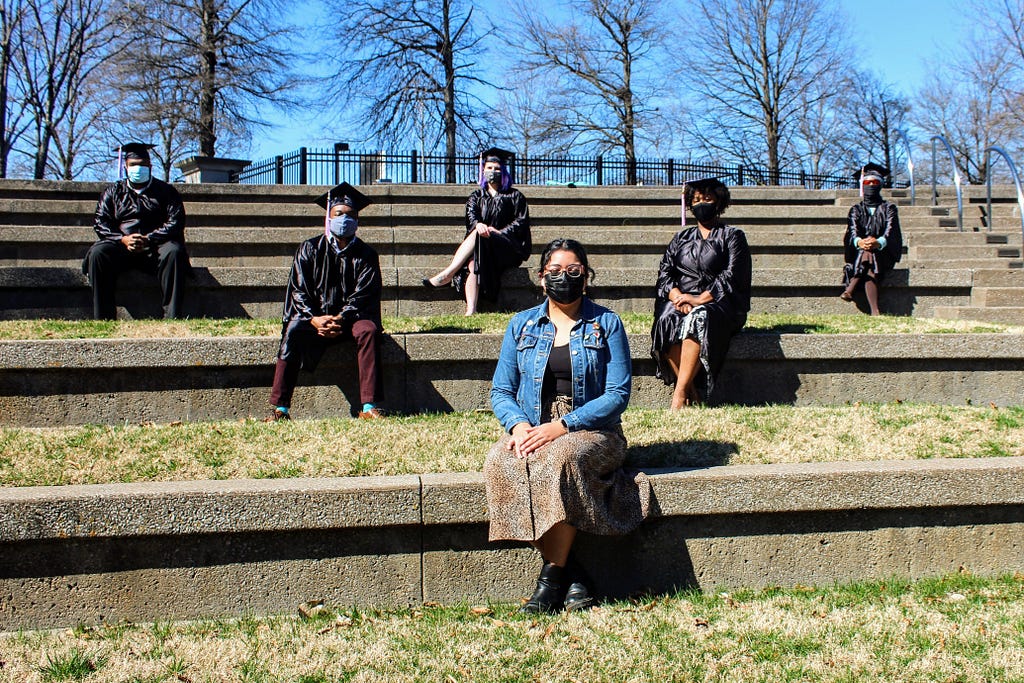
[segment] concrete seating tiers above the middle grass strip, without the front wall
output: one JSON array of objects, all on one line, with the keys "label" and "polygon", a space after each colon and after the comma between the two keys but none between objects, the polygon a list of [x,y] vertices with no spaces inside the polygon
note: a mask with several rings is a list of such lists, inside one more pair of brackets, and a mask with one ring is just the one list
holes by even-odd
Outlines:
[{"label": "concrete seating tiers above the middle grass strip, without the front wall", "polygon": [[[82,255],[99,183],[0,181],[0,318],[87,317],[89,290]],[[197,279],[190,311],[202,316],[275,316],[292,253],[315,234],[321,188],[182,185],[187,238]],[[385,313],[457,313],[454,292],[420,280],[441,267],[462,236],[468,188],[379,185],[361,216],[361,234],[381,254]],[[1024,270],[1016,204],[1000,188],[995,225],[979,227],[984,197],[971,188],[965,231],[956,230],[948,194],[937,207],[902,206],[906,254],[884,295],[887,311],[1024,323]],[[678,188],[526,187],[535,254],[558,236],[586,244],[598,271],[597,296],[617,310],[647,311],[657,262],[679,220]],[[905,198],[899,197],[899,202]],[[905,194],[905,193],[902,193]],[[840,236],[853,191],[794,188],[733,190],[730,222],[744,228],[755,263],[756,312],[851,312],[837,296]],[[954,211],[954,209],[953,209]],[[1015,227],[1017,225],[1018,227]],[[537,256],[507,273],[503,308],[538,300],[530,270]],[[122,314],[159,314],[156,284],[128,275]],[[7,424],[52,425],[262,415],[275,339],[176,339],[3,342],[0,407]],[[387,343],[391,397],[398,412],[486,407],[500,338],[494,335],[397,335]],[[1024,349],[999,337],[814,337],[743,335],[731,350],[719,400],[835,403],[919,400],[1021,403]],[[664,404],[643,336],[632,340],[637,371],[634,405]],[[117,358],[138,359],[123,367]],[[296,408],[303,416],[338,414],[351,394],[344,347],[327,367],[304,376]],[[900,358],[879,362],[878,357]],[[898,387],[898,390],[894,390]],[[895,391],[895,393],[894,393]],[[898,394],[898,395],[896,395]]]}]

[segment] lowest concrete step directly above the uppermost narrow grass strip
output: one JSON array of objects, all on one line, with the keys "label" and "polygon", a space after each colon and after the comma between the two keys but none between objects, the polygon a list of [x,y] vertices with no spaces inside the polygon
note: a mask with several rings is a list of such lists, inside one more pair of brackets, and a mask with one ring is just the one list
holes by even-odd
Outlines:
[{"label": "lowest concrete step directly above the uppermost narrow grass strip", "polygon": [[[383,310],[391,315],[459,313],[463,303],[454,290],[429,290],[421,280],[432,274],[422,267],[383,268]],[[866,310],[839,298],[840,268],[766,268],[754,272],[755,312],[849,313]],[[655,271],[651,268],[602,268],[594,281],[595,296],[616,310],[648,311],[652,306]],[[193,317],[272,317],[281,314],[288,268],[196,268],[186,297]],[[525,267],[505,273],[498,308],[518,310],[539,300],[535,273]],[[883,293],[885,312],[928,315],[937,305],[969,305],[970,270],[893,270]],[[2,318],[91,315],[91,293],[81,269],[0,268]],[[127,273],[119,284],[118,304],[125,317],[159,316],[156,279]]]}]

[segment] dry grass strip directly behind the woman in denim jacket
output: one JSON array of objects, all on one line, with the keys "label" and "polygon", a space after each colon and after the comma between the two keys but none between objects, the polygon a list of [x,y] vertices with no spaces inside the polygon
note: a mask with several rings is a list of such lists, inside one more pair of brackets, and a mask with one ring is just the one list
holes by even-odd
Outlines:
[{"label": "dry grass strip directly behind the woman in denim jacket", "polygon": [[[1024,408],[722,407],[624,417],[638,467],[1024,456]],[[489,414],[0,429],[0,485],[480,471]]]}]

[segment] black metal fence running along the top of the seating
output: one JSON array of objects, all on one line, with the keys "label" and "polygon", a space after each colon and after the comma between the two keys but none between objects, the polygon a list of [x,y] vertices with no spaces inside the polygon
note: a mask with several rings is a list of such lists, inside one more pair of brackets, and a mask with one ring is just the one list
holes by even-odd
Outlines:
[{"label": "black metal fence running along the top of the seating", "polygon": [[[461,184],[477,182],[476,157],[444,157],[390,152],[299,150],[256,162],[232,175],[247,184],[331,185],[380,182]],[[819,175],[804,171],[771,174],[756,166],[686,164],[674,159],[638,159],[632,164],[612,157],[517,157],[510,164],[520,185],[681,185],[687,180],[717,176],[728,185],[797,185],[812,189],[856,187],[845,175]]]}]

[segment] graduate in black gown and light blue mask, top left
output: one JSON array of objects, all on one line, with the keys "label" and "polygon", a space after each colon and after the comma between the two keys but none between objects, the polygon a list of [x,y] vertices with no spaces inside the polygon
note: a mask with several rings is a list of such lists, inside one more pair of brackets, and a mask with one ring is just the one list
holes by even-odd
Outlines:
[{"label": "graduate in black gown and light blue mask, top left", "polygon": [[82,271],[92,286],[92,316],[117,317],[115,292],[126,270],[155,274],[163,292],[166,317],[182,317],[185,278],[190,273],[185,251],[185,209],[172,185],[153,177],[150,150],[154,145],[129,142],[117,147],[118,175],[99,198],[93,228],[94,243]]}]

